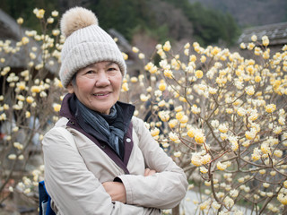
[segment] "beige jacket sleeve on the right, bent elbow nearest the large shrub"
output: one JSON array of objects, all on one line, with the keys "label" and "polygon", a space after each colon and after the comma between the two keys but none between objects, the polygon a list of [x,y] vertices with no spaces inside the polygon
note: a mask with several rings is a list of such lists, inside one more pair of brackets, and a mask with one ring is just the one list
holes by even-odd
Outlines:
[{"label": "beige jacket sleeve on the right, bent elbow nearest the large shrub", "polygon": [[187,193],[187,176],[154,141],[143,120],[134,117],[133,125],[146,168],[157,173],[118,176],[126,187],[126,202],[159,209],[174,208]]}]

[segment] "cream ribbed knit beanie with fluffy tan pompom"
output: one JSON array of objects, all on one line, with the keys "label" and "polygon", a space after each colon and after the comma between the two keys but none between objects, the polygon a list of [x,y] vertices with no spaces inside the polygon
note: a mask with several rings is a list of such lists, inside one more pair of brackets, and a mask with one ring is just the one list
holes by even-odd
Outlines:
[{"label": "cream ribbed knit beanie with fluffy tan pompom", "polygon": [[83,7],[71,8],[64,13],[60,26],[65,43],[59,76],[65,88],[78,70],[101,61],[117,63],[125,76],[124,57],[114,39],[100,28],[94,13]]}]

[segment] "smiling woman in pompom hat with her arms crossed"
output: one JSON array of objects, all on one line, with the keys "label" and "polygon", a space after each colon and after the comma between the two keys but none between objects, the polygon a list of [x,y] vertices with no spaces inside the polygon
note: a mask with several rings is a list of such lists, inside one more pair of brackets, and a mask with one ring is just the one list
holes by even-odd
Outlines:
[{"label": "smiling woman in pompom hat with her arms crossed", "polygon": [[135,107],[117,101],[126,73],[117,44],[81,7],[63,15],[61,30],[60,79],[69,93],[42,142],[52,209],[137,215],[175,207],[187,178],[133,116]]}]

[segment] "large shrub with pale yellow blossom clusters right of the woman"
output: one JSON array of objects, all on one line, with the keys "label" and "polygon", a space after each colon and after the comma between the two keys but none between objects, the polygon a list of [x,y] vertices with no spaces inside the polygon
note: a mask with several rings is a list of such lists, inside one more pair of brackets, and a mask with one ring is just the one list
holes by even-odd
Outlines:
[{"label": "large shrub with pale yellow blossom clusters right of the woman", "polygon": [[271,56],[268,38],[252,39],[240,45],[252,59],[196,42],[173,53],[168,41],[136,79],[152,136],[205,194],[194,202],[202,214],[243,214],[236,204],[274,214],[287,203],[287,46]]}]

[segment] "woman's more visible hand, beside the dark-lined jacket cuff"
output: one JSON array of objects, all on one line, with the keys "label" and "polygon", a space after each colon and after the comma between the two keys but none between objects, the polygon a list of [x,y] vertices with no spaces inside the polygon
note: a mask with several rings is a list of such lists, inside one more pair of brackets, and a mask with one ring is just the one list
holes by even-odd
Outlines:
[{"label": "woman's more visible hand, beside the dark-lined jacket cuff", "polygon": [[109,193],[112,201],[126,203],[126,187],[120,182],[104,182],[102,183],[107,193]]}]

